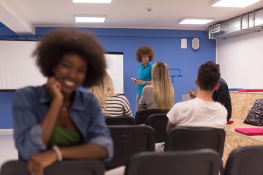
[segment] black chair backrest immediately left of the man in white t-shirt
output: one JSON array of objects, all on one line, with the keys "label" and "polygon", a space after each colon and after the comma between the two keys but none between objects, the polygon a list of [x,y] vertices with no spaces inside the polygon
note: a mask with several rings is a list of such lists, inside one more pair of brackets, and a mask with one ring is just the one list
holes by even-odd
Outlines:
[{"label": "black chair backrest immediately left of the man in white t-shirt", "polygon": [[150,125],[155,130],[155,142],[164,142],[166,140],[166,126],[168,117],[166,113],[155,113],[148,116],[146,124]]}]

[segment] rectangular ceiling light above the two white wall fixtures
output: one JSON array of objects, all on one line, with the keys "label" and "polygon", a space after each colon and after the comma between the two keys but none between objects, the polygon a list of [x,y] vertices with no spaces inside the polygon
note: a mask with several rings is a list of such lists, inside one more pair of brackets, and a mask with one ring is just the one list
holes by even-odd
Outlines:
[{"label": "rectangular ceiling light above the two white wall fixtures", "polygon": [[183,17],[177,22],[179,24],[206,24],[214,19],[214,17]]}]

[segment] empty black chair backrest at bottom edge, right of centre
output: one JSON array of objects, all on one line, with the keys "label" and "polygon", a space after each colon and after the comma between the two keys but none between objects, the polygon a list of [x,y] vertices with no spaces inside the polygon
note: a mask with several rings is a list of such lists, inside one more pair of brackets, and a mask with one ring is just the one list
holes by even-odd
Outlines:
[{"label": "empty black chair backrest at bottom edge, right of centre", "polygon": [[218,175],[220,157],[215,150],[141,152],[126,164],[125,175]]}]

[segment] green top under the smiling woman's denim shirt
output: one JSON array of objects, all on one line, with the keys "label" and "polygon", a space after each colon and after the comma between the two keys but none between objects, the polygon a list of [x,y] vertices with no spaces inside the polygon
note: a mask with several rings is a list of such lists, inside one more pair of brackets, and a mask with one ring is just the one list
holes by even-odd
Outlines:
[{"label": "green top under the smiling woman's denim shirt", "polygon": [[78,130],[69,130],[55,124],[52,135],[48,142],[48,148],[53,145],[58,146],[72,146],[80,144],[82,136]]}]

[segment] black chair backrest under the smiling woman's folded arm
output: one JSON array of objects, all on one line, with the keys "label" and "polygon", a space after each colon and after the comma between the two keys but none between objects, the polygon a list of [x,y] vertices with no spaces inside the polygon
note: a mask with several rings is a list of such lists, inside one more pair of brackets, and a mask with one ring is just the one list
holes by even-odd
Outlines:
[{"label": "black chair backrest under the smiling woman's folded arm", "polygon": [[[0,175],[30,175],[27,161],[11,160],[1,167]],[[104,165],[96,159],[77,159],[56,162],[44,169],[45,175],[103,175]]]}]

